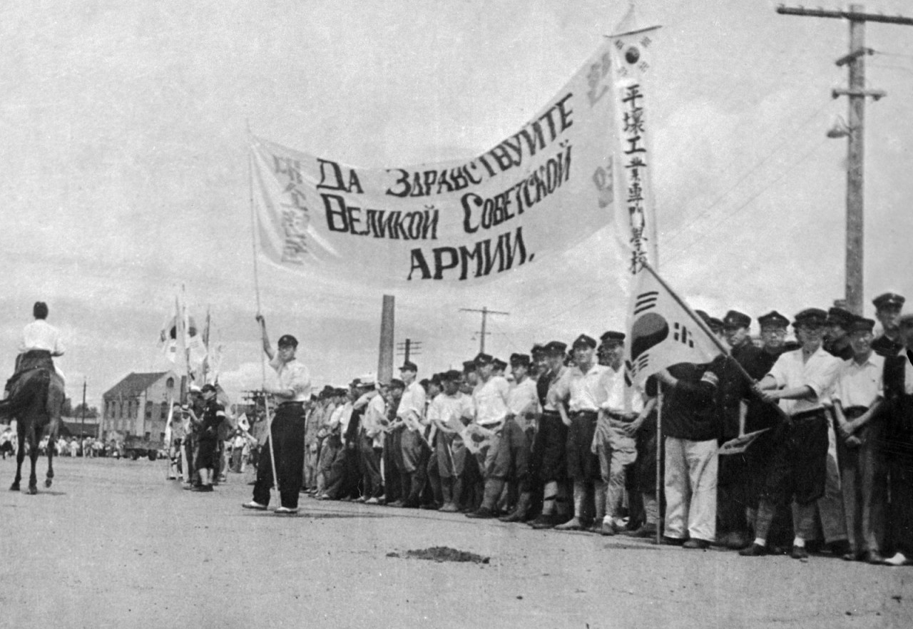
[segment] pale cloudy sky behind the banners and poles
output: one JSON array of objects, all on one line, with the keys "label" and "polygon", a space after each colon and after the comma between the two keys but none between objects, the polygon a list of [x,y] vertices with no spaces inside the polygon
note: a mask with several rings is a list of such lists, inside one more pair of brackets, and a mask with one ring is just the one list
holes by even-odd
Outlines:
[{"label": "pale cloudy sky behind the banners and poles", "polygon": [[[820,3],[819,3],[820,4]],[[848,25],[757,0],[638,0],[653,48],[659,267],[693,308],[753,317],[844,292]],[[228,393],[262,384],[259,307],[292,333],[315,384],[377,369],[383,291],[255,257],[248,131],[363,167],[474,156],[515,132],[582,66],[628,2],[163,0],[0,7],[0,363],[32,304],[62,331],[68,395],[90,405],[171,365],[159,330],[177,291],[212,312]],[[825,8],[845,8],[826,4]],[[913,15],[902,0],[866,10]],[[906,13],[905,13],[906,12]],[[913,31],[869,23],[866,314],[913,298]],[[258,288],[258,290],[257,290]],[[420,377],[479,350],[624,329],[611,227],[477,288],[395,297]],[[397,357],[397,360],[402,360]]]}]

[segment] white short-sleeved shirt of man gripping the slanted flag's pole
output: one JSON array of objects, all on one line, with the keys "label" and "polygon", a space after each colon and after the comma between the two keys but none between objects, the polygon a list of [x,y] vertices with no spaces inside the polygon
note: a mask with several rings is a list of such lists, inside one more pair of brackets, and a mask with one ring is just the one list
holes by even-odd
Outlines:
[{"label": "white short-sleeved shirt of man gripping the slanted flag's pole", "polygon": [[792,389],[807,386],[814,392],[812,399],[781,400],[780,407],[788,414],[806,413],[823,408],[831,402],[831,393],[837,380],[837,371],[843,361],[819,347],[808,361],[803,361],[803,351],[785,351],[771,367],[771,375],[779,388]]}]

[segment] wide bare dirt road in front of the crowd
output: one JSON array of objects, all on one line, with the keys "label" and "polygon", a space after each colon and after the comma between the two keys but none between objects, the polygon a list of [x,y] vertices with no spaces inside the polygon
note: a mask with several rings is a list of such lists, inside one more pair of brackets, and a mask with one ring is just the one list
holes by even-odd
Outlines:
[{"label": "wide bare dirt road in front of the crowd", "polygon": [[[310,498],[288,518],[240,508],[249,475],[200,494],[166,481],[162,461],[55,463],[50,489],[0,493],[0,626],[913,626],[910,567]],[[14,472],[0,461],[4,487]],[[436,546],[490,559],[403,558]]]}]

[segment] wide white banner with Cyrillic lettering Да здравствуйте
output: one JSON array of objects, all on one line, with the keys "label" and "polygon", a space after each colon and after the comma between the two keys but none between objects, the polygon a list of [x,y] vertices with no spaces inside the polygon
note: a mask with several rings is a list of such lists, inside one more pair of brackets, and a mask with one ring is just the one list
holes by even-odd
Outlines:
[{"label": "wide white banner with Cyrillic lettering \u0414\u0430 \u0437\u0434\u0440\u0430\u0432\u0441\u0442\u0432\u0443\u0439\u0442\u0435", "polygon": [[259,251],[403,284],[497,278],[612,220],[606,41],[540,112],[465,161],[358,168],[252,138]]}]

